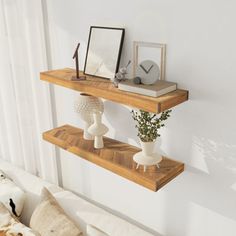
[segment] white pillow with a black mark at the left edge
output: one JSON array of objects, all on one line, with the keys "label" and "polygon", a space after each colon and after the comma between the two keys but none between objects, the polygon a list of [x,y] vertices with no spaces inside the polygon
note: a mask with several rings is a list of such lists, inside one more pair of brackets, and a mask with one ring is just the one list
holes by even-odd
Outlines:
[{"label": "white pillow with a black mark at the left edge", "polygon": [[0,170],[0,202],[16,217],[20,217],[25,202],[25,193]]}]

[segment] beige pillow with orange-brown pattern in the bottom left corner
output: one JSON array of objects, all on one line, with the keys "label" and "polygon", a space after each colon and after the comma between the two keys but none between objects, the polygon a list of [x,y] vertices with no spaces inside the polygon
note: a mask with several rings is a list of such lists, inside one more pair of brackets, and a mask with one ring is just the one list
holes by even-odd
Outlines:
[{"label": "beige pillow with orange-brown pattern in the bottom left corner", "polygon": [[21,224],[11,215],[3,203],[0,203],[0,236],[40,236]]}]

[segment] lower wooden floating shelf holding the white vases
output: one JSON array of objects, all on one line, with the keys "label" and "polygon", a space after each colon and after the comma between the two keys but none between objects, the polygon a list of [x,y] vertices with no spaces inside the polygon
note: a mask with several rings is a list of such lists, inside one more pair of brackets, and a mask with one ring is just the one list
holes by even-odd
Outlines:
[{"label": "lower wooden floating shelf holding the white vases", "polygon": [[43,139],[98,166],[112,171],[150,190],[157,191],[184,171],[184,164],[163,157],[160,168],[136,170],[133,155],[139,148],[104,137],[103,149],[95,149],[93,141],[83,139],[83,130],[64,125],[43,133]]}]

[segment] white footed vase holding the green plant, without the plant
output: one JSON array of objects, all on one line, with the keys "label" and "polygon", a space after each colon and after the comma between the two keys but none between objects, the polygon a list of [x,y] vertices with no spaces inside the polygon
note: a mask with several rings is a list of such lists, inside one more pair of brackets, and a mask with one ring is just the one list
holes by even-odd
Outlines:
[{"label": "white footed vase holding the green plant, without the plant", "polygon": [[155,141],[142,142],[140,140],[142,151],[133,156],[133,160],[137,163],[137,169],[140,165],[144,166],[144,171],[146,171],[148,166],[156,165],[159,168],[162,156],[159,153],[154,152],[155,143]]}]

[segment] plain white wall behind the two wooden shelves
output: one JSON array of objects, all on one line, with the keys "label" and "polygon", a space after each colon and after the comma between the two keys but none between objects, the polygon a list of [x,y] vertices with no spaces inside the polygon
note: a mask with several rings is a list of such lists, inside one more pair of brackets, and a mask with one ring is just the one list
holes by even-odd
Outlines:
[{"label": "plain white wall behind the two wooden shelves", "polygon": [[[190,90],[173,109],[161,149],[186,171],[151,192],[61,151],[64,187],[168,236],[236,235],[236,3],[233,0],[48,1],[53,67],[84,61],[90,25],[126,28],[123,64],[132,41],[167,43],[167,79]],[[82,127],[78,93],[55,87],[58,124]],[[137,144],[126,107],[105,103],[109,136]]]}]

